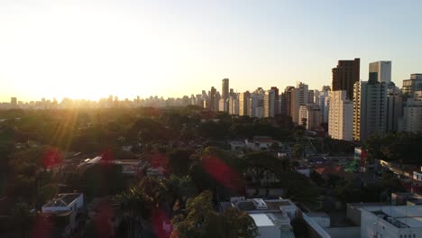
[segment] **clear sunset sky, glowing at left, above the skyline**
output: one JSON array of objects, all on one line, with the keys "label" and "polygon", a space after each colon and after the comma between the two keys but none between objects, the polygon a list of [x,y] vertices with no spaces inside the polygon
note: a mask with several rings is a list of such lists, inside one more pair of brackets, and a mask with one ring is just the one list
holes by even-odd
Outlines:
[{"label": "clear sunset sky, glowing at left, above the skyline", "polygon": [[338,59],[422,73],[422,1],[1,0],[0,101],[331,85]]}]

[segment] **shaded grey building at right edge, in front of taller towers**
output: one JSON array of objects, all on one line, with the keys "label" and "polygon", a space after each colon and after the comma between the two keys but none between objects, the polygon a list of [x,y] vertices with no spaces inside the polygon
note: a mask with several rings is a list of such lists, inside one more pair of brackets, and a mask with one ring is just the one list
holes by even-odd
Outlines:
[{"label": "shaded grey building at right edge, in front of taller towers", "polygon": [[422,101],[408,98],[403,107],[403,117],[399,118],[399,131],[422,133]]}]

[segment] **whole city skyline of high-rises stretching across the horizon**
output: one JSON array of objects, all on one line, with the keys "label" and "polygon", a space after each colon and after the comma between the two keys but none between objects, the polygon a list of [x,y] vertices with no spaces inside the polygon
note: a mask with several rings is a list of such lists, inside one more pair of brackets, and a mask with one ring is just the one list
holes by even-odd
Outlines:
[{"label": "whole city skyline of high-rises stretching across the horizon", "polygon": [[289,116],[294,124],[307,130],[322,130],[338,140],[363,141],[373,133],[422,132],[422,74],[411,74],[403,80],[403,87],[391,81],[391,61],[377,61],[369,65],[366,81],[360,78],[360,59],[338,60],[332,69],[332,86],[321,90],[309,89],[298,82],[280,92],[278,87],[237,93],[229,87],[229,78],[222,80],[221,94],[216,87],[201,94],[164,99],[150,96],[133,100],[119,100],[108,96],[99,101],[64,98],[60,103],[54,98],[41,101],[18,101],[0,108],[62,109],[62,108],[111,108],[111,107],[166,107],[197,105],[213,112],[252,117]]}]

